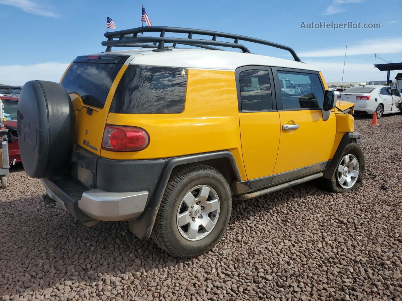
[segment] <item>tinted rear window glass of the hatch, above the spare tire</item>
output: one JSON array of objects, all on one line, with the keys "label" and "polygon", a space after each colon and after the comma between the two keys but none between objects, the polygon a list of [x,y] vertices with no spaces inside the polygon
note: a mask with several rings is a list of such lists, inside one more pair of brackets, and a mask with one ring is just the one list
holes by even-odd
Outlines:
[{"label": "tinted rear window glass of the hatch, above the spare tire", "polygon": [[62,85],[68,93],[76,93],[88,106],[103,108],[107,94],[122,64],[73,63]]}]

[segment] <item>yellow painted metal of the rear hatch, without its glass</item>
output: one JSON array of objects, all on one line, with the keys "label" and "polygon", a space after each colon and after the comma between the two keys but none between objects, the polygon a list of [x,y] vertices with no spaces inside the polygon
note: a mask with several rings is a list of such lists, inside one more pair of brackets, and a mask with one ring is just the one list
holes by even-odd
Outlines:
[{"label": "yellow painted metal of the rear hatch, without its glass", "polygon": [[[78,94],[70,93],[73,102],[73,108],[76,115],[76,144],[83,148],[100,155],[100,146],[102,144],[103,130],[105,129],[109,107],[115,94],[117,85],[123,76],[127,65],[123,65],[117,73],[115,80],[107,95],[105,106],[103,109],[94,108],[92,115],[86,113],[86,108]],[[92,107],[91,107],[92,108]],[[85,142],[85,144],[84,144]]]}]

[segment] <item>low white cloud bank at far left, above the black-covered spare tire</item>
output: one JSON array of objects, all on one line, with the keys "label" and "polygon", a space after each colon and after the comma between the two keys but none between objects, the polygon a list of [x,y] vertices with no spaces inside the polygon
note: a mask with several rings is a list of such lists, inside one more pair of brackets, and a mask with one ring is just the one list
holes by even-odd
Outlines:
[{"label": "low white cloud bank at far left, above the black-covered spare tire", "polygon": [[68,65],[68,63],[48,62],[34,65],[0,66],[0,83],[23,85],[33,79],[59,82]]}]

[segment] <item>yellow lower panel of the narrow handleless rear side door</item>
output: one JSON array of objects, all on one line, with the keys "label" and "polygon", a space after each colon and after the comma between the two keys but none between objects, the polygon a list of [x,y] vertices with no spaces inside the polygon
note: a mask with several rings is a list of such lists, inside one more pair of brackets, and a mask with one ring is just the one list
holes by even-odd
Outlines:
[{"label": "yellow lower panel of the narrow handleless rear side door", "polygon": [[239,119],[247,178],[272,175],[279,147],[279,112],[242,112]]}]

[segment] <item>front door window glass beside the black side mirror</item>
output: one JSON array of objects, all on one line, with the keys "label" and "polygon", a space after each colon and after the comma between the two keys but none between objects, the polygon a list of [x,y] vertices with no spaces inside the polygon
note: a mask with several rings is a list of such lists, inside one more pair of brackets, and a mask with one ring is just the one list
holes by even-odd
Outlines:
[{"label": "front door window glass beside the black side mirror", "polygon": [[324,88],[318,74],[278,71],[283,109],[319,109],[324,104]]}]

